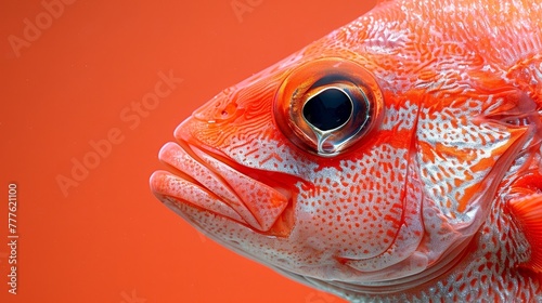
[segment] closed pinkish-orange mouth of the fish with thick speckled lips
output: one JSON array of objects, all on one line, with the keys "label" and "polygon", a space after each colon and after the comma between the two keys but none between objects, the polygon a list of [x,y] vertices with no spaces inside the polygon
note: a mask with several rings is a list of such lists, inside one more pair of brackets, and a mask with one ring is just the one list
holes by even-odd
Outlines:
[{"label": "closed pinkish-orange mouth of the fish with thick speckled lips", "polygon": [[[198,144],[166,143],[158,155],[169,168],[151,176],[154,195],[169,208],[178,203],[209,211],[255,232],[287,236],[294,225],[295,181],[284,173],[253,169]],[[280,175],[278,175],[280,174]],[[173,201],[173,203],[172,203]]]}]

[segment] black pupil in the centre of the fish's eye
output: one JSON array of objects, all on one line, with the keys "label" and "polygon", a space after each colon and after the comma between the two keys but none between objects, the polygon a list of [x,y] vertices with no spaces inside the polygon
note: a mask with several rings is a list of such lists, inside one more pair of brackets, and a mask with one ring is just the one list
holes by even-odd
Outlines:
[{"label": "black pupil in the centre of the fish's eye", "polygon": [[305,119],[321,131],[343,126],[352,113],[350,98],[340,90],[328,89],[310,98],[304,106]]}]

